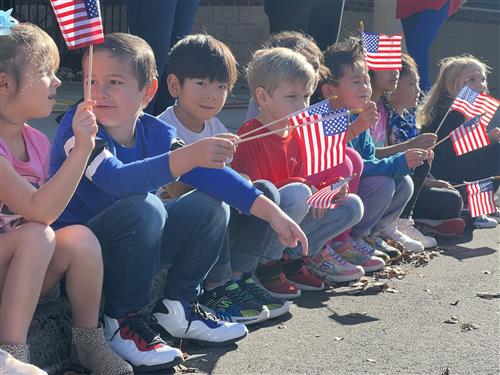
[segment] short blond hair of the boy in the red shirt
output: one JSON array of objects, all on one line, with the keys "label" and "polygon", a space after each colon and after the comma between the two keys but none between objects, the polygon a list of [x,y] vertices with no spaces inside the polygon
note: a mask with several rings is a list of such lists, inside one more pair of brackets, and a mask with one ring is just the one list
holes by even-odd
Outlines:
[{"label": "short blond hair of the boy in the red shirt", "polygon": [[255,98],[257,87],[270,95],[283,81],[301,81],[314,90],[318,75],[304,56],[291,49],[277,47],[261,49],[253,54],[246,69],[248,87]]}]

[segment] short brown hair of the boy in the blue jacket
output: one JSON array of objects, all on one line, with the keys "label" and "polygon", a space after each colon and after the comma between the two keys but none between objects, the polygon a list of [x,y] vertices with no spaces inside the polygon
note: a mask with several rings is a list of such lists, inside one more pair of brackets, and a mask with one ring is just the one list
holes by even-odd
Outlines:
[{"label": "short brown hair of the boy in the blue jacket", "polygon": [[[144,39],[138,36],[126,33],[107,34],[104,37],[104,43],[94,46],[94,52],[99,51],[108,51],[119,60],[129,62],[139,81],[139,90],[151,85],[158,77],[153,50]],[[87,56],[88,50],[83,54],[84,58]]]}]

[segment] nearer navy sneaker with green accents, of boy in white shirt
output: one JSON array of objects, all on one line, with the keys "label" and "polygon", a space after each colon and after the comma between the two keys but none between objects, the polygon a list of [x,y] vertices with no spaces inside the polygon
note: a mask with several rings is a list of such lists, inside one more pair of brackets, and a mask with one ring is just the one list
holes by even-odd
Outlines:
[{"label": "nearer navy sneaker with green accents, of boy in white shirt", "polygon": [[212,290],[204,290],[198,297],[204,310],[231,323],[256,324],[269,319],[269,310],[262,303],[229,281]]}]

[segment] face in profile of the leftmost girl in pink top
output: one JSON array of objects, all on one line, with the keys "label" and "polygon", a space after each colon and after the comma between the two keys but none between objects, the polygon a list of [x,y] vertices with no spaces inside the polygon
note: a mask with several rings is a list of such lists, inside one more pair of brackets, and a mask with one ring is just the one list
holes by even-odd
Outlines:
[{"label": "face in profile of the leftmost girl in pink top", "polygon": [[55,97],[60,85],[61,81],[55,76],[54,70],[40,72],[33,64],[27,65],[19,89],[7,108],[11,114],[9,117],[25,122],[49,116],[56,104]]}]

